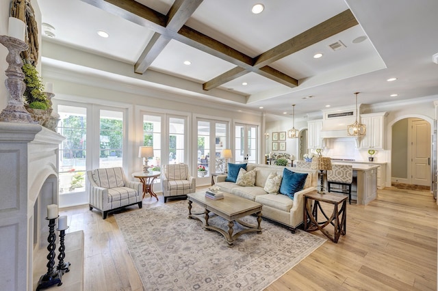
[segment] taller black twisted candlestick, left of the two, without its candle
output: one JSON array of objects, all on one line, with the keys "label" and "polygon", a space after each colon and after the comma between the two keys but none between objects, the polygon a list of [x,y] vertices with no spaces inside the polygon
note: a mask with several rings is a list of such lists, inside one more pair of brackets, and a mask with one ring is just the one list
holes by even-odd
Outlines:
[{"label": "taller black twisted candlestick, left of the two, without its candle", "polygon": [[55,234],[55,220],[49,219],[46,217],[46,220],[49,221],[49,237],[47,238],[47,242],[49,242],[49,245],[47,246],[47,251],[49,251],[49,255],[47,255],[47,273],[45,275],[42,275],[40,277],[40,281],[38,281],[38,287],[36,290],[42,290],[45,288],[49,288],[53,285],[61,286],[62,281],[61,277],[59,276],[59,272],[55,271],[53,269],[53,266],[55,266],[55,249],[56,249],[56,234]]}]

